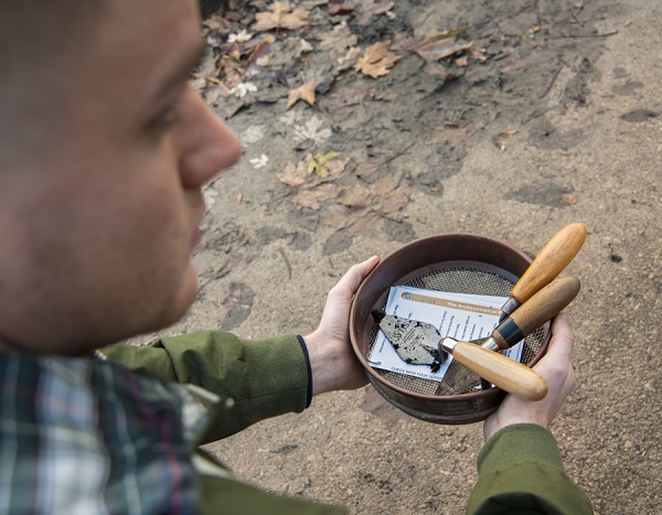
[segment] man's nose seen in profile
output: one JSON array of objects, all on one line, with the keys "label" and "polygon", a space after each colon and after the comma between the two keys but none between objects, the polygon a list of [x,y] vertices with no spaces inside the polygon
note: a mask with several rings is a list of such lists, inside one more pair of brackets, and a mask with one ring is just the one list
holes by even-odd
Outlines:
[{"label": "man's nose seen in profile", "polygon": [[184,187],[200,187],[242,155],[242,144],[229,127],[189,86],[178,124],[180,174]]}]

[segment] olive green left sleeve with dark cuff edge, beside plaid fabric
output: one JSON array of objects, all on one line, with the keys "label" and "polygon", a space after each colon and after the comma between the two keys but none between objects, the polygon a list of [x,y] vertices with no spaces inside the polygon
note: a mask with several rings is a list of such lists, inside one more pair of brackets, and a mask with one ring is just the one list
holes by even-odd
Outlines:
[{"label": "olive green left sleeve with dark cuff edge, beside plaid fabric", "polygon": [[301,412],[310,404],[308,357],[293,334],[242,340],[203,331],[162,337],[142,347],[111,345],[102,353],[166,382],[191,383],[218,395],[223,401],[214,409],[201,443],[269,417]]}]

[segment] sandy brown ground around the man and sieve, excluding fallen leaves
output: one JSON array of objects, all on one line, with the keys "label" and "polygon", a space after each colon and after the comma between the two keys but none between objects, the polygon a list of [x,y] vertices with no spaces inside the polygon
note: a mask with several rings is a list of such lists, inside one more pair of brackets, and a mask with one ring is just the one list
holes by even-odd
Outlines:
[{"label": "sandy brown ground around the man and sieve, excluding fallen leaves", "polygon": [[[305,33],[316,49],[339,23],[323,9]],[[552,429],[597,513],[660,513],[662,8],[410,0],[392,12],[350,22],[357,44],[469,26],[462,41],[483,47],[485,61],[456,62],[444,76],[409,53],[388,75],[345,73],[314,107],[287,110],[288,89],[331,69],[328,52],[314,50],[306,67],[300,60],[261,77],[268,103],[235,110],[229,99],[215,101],[245,155],[207,192],[200,299],[169,332],[306,334],[328,290],[373,254],[462,232],[535,255],[559,228],[583,222],[587,242],[567,270],[583,283],[568,309],[579,384]],[[317,132],[298,136],[301,127]],[[337,193],[361,184],[402,191],[406,202],[386,212],[373,199],[378,216],[367,221],[333,196],[300,208],[299,191],[278,174],[307,152],[331,150],[349,159],[331,182]],[[250,162],[263,154],[266,165]],[[357,222],[343,227],[337,213]],[[210,449],[246,481],[354,514],[456,514],[477,479],[481,429],[414,419],[369,386],[320,396],[302,415]]]}]

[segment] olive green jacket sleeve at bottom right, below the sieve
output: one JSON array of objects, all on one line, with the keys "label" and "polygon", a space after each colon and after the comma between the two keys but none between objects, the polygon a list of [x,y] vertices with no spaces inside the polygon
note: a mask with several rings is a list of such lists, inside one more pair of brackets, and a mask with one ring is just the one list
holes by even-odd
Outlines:
[{"label": "olive green jacket sleeve at bottom right, below the sieve", "polygon": [[479,480],[468,514],[592,514],[586,494],[566,475],[556,440],[532,423],[508,426],[478,455]]}]

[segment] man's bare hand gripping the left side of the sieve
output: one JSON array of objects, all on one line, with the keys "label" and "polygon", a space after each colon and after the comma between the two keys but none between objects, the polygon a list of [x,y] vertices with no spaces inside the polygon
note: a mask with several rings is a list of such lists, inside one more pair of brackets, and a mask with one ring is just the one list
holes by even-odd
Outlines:
[{"label": "man's bare hand gripping the left side of the sieve", "polygon": [[350,308],[376,256],[354,265],[329,291],[319,328],[306,336],[312,369],[312,394],[364,386],[367,378],[350,344]]}]

